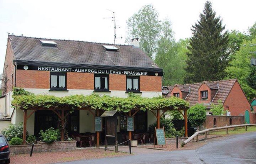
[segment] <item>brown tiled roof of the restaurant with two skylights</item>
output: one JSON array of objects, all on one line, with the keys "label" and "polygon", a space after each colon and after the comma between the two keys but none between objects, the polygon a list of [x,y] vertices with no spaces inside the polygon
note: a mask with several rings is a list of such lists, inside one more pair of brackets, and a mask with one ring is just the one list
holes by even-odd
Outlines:
[{"label": "brown tiled roof of the restaurant with two skylights", "polygon": [[[8,38],[18,61],[159,68],[140,48],[134,46],[13,35]],[[40,40],[54,41],[57,48],[42,46]],[[119,50],[107,51],[102,45],[116,46]]]}]

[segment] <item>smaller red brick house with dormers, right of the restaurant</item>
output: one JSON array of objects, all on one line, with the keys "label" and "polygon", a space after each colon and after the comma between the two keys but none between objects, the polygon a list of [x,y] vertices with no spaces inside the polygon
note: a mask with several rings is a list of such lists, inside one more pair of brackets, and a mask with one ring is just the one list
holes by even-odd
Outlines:
[{"label": "smaller red brick house with dormers, right of the restaurant", "polygon": [[218,104],[221,100],[224,108],[231,116],[245,116],[245,120],[255,123],[255,116],[251,113],[251,105],[247,100],[237,79],[204,81],[196,84],[169,86],[166,97],[176,96],[190,103],[190,106],[202,103],[207,108],[207,115],[211,115],[211,104]]}]

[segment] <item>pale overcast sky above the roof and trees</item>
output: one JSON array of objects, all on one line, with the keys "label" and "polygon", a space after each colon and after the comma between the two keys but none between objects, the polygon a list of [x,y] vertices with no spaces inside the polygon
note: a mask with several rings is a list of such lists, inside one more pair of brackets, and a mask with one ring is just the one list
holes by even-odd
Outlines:
[{"label": "pale overcast sky above the roof and trees", "polygon": [[[143,5],[152,4],[160,19],[169,18],[176,40],[191,36],[206,0],[0,0],[0,72],[3,70],[7,32],[15,35],[113,43],[115,12],[117,44],[125,43],[126,21]],[[256,0],[211,0],[226,30],[246,31],[256,21]],[[108,9],[108,10],[106,10]]]}]

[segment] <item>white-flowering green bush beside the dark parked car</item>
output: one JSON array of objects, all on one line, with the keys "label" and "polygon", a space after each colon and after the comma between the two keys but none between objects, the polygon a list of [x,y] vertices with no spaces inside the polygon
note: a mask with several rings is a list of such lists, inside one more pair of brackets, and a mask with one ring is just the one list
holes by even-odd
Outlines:
[{"label": "white-flowering green bush beside the dark parked car", "polygon": [[[2,134],[5,136],[7,141],[11,141],[12,138],[23,138],[23,123],[10,124],[8,128],[4,128]],[[28,131],[27,131],[28,135]]]}]

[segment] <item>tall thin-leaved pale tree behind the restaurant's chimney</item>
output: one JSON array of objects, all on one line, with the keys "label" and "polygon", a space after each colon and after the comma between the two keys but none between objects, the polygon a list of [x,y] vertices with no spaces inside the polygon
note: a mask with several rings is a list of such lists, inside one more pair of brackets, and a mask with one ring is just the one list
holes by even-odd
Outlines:
[{"label": "tall thin-leaved pale tree behind the restaurant's chimney", "polygon": [[132,38],[140,38],[140,48],[149,56],[157,51],[157,41],[161,33],[161,21],[159,14],[152,5],[145,5],[138,13],[131,16],[127,21],[126,41]]}]

